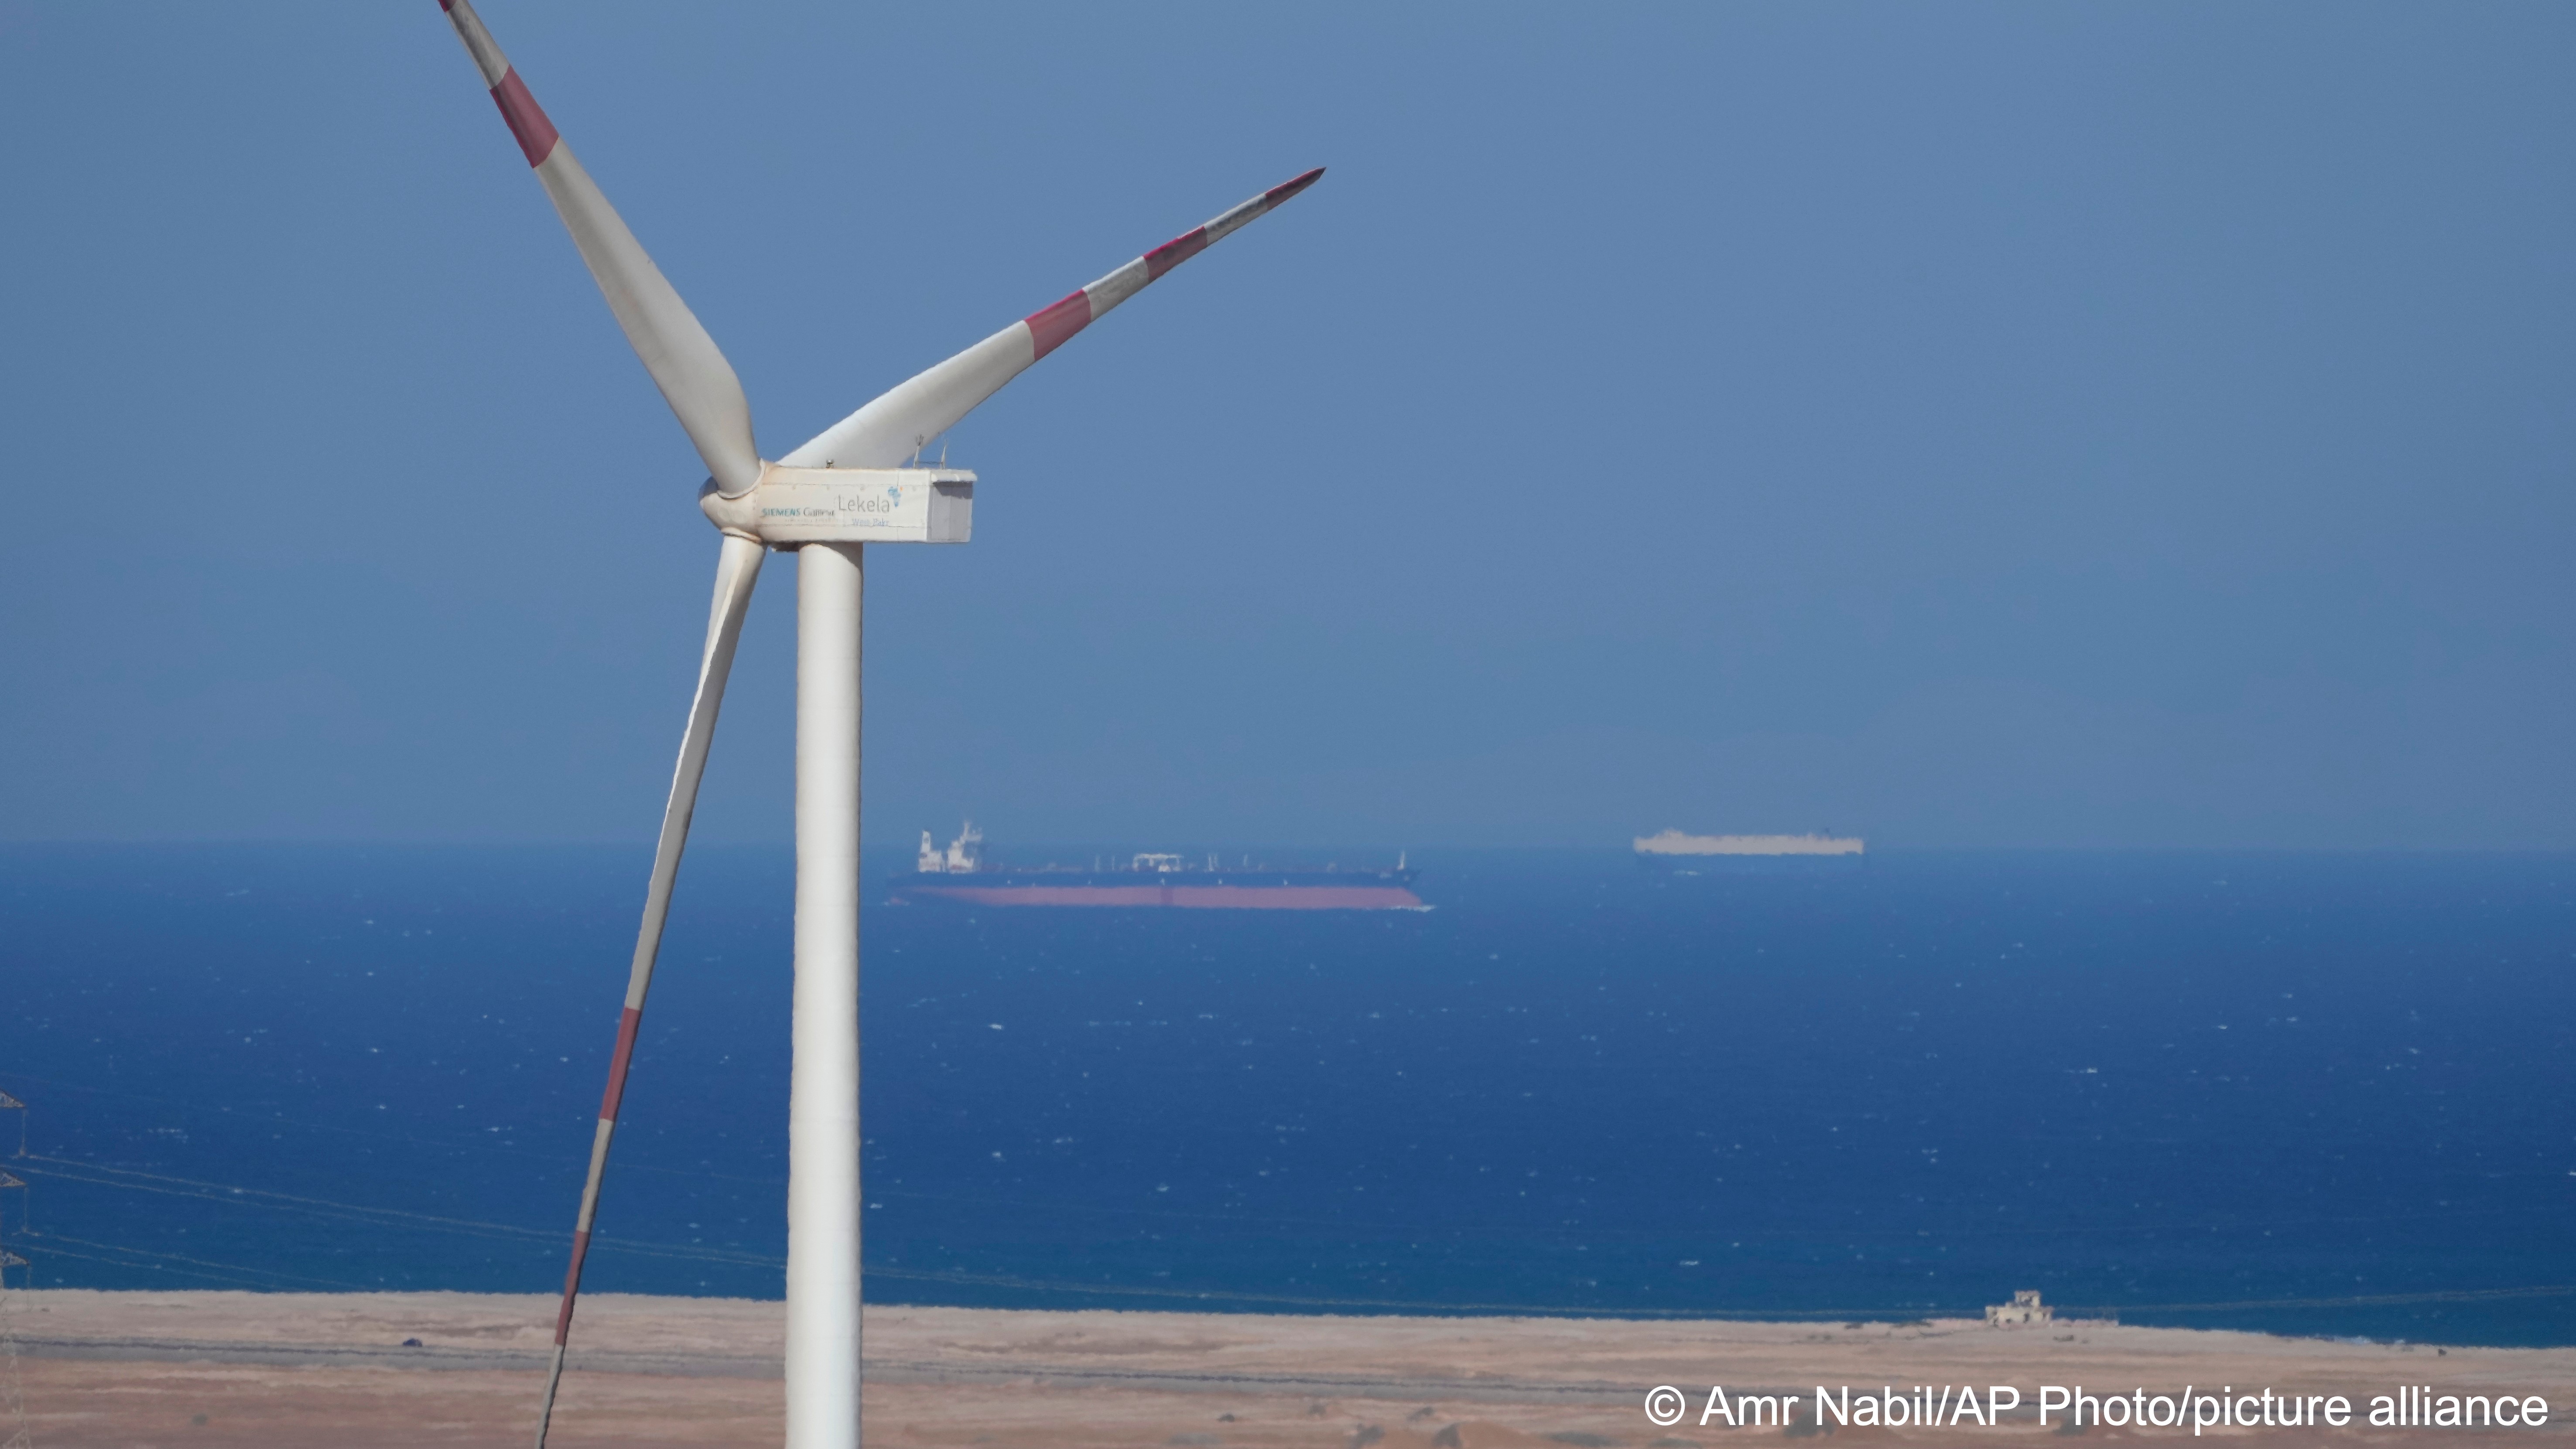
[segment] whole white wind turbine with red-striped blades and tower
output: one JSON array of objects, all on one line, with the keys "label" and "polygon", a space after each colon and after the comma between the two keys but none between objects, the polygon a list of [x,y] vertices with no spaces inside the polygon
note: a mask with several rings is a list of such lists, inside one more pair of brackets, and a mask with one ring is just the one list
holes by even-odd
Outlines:
[{"label": "whole white wind turbine with red-striped blades and tower", "polygon": [[600,1204],[600,1176],[618,1125],[618,1096],[634,1058],[644,993],[652,986],[670,888],[680,875],[698,777],[716,736],[724,677],[742,638],[742,615],[770,548],[796,553],[796,996],[788,1068],[788,1449],[858,1444],[858,659],[860,548],[866,543],[966,543],[974,525],[974,474],[904,466],[976,404],[1038,358],[1061,347],[1146,283],[1221,242],[1234,229],[1314,185],[1321,167],[1275,185],[1216,221],[1175,237],[1092,286],[1043,306],[938,363],[822,430],[778,461],[752,445],[752,407],[706,327],[652,265],[608,198],[572,160],[572,147],[528,95],[466,0],[438,0],[474,57],[502,121],[582,263],[608,296],[644,371],[698,445],[708,479],[698,507],[724,535],[716,597],[698,656],[698,695],[688,705],[680,764],[662,808],[644,888],[618,1045],[590,1140],[590,1176],[572,1230],[564,1305],[554,1318],[554,1364],[538,1410],[546,1444],[554,1390],[564,1377],[572,1300]]}]

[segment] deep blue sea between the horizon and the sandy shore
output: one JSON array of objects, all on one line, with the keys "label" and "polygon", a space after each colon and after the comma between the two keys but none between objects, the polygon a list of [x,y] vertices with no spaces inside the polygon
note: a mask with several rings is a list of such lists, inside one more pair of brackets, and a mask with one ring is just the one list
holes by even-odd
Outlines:
[{"label": "deep blue sea between the horizon and the sandy shore", "polygon": [[[644,865],[0,852],[10,1282],[556,1289]],[[2576,857],[1414,865],[871,906],[871,1300],[2576,1341]],[[690,857],[590,1289],[783,1292],[788,906]]]}]

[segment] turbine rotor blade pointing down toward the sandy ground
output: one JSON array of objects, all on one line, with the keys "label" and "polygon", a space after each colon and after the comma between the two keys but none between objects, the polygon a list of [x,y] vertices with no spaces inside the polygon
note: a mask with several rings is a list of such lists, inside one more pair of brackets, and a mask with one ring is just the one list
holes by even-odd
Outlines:
[{"label": "turbine rotor blade pointing down toward the sandy ground", "polygon": [[670,803],[662,806],[662,842],[652,857],[652,883],[644,888],[644,927],[636,932],[634,970],[626,978],[626,1009],[618,1011],[618,1048],[608,1058],[608,1091],[600,1096],[600,1125],[590,1138],[590,1176],[582,1179],[582,1212],[572,1225],[572,1266],[564,1271],[564,1307],[554,1315],[554,1367],[546,1369],[546,1403],[536,1413],[536,1449],[546,1449],[546,1421],[554,1418],[554,1387],[564,1380],[564,1341],[572,1336],[572,1300],[582,1292],[582,1259],[590,1256],[590,1220],[600,1210],[600,1176],[608,1171],[608,1140],[618,1132],[618,1099],[626,1096],[626,1066],[634,1060],[636,1027],[644,1024],[644,993],[652,988],[652,963],[662,952],[662,921],[670,916],[670,888],[680,878],[680,852],[688,849],[688,816],[698,808],[698,780],[706,775],[706,746],[716,739],[716,710],[724,708],[724,677],[734,669],[734,643],[742,641],[742,615],[760,582],[762,546],[724,535],[716,556],[716,602],[706,618],[706,654],[698,659],[698,697],[688,705],[688,734],[680,736],[680,767],[670,777]]}]

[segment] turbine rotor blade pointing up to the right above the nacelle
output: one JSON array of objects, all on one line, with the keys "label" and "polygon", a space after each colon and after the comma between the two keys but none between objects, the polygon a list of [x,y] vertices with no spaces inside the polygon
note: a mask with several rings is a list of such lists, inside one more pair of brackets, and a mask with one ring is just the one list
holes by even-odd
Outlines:
[{"label": "turbine rotor blade pointing up to the right above the nacelle", "polygon": [[1273,185],[1198,232],[1172,237],[1064,301],[1030,311],[956,358],[896,383],[868,407],[842,417],[811,443],[781,458],[781,463],[796,468],[891,468],[902,463],[925,443],[948,432],[979,401],[1002,391],[1002,383],[1020,376],[1023,368],[1061,347],[1066,337],[1108,317],[1113,306],[1144,291],[1162,273],[1188,263],[1247,221],[1306,190],[1319,175],[1324,175],[1324,167],[1314,167],[1285,185]]}]

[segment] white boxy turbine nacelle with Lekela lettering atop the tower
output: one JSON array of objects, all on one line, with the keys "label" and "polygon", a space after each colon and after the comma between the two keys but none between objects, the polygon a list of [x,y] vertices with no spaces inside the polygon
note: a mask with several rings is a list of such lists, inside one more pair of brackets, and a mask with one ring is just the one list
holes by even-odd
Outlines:
[{"label": "white boxy turbine nacelle with Lekela lettering atop the tower", "polygon": [[966,543],[974,474],[966,468],[791,468],[762,463],[760,481],[724,497],[698,489],[698,512],[732,538],[799,543]]}]

